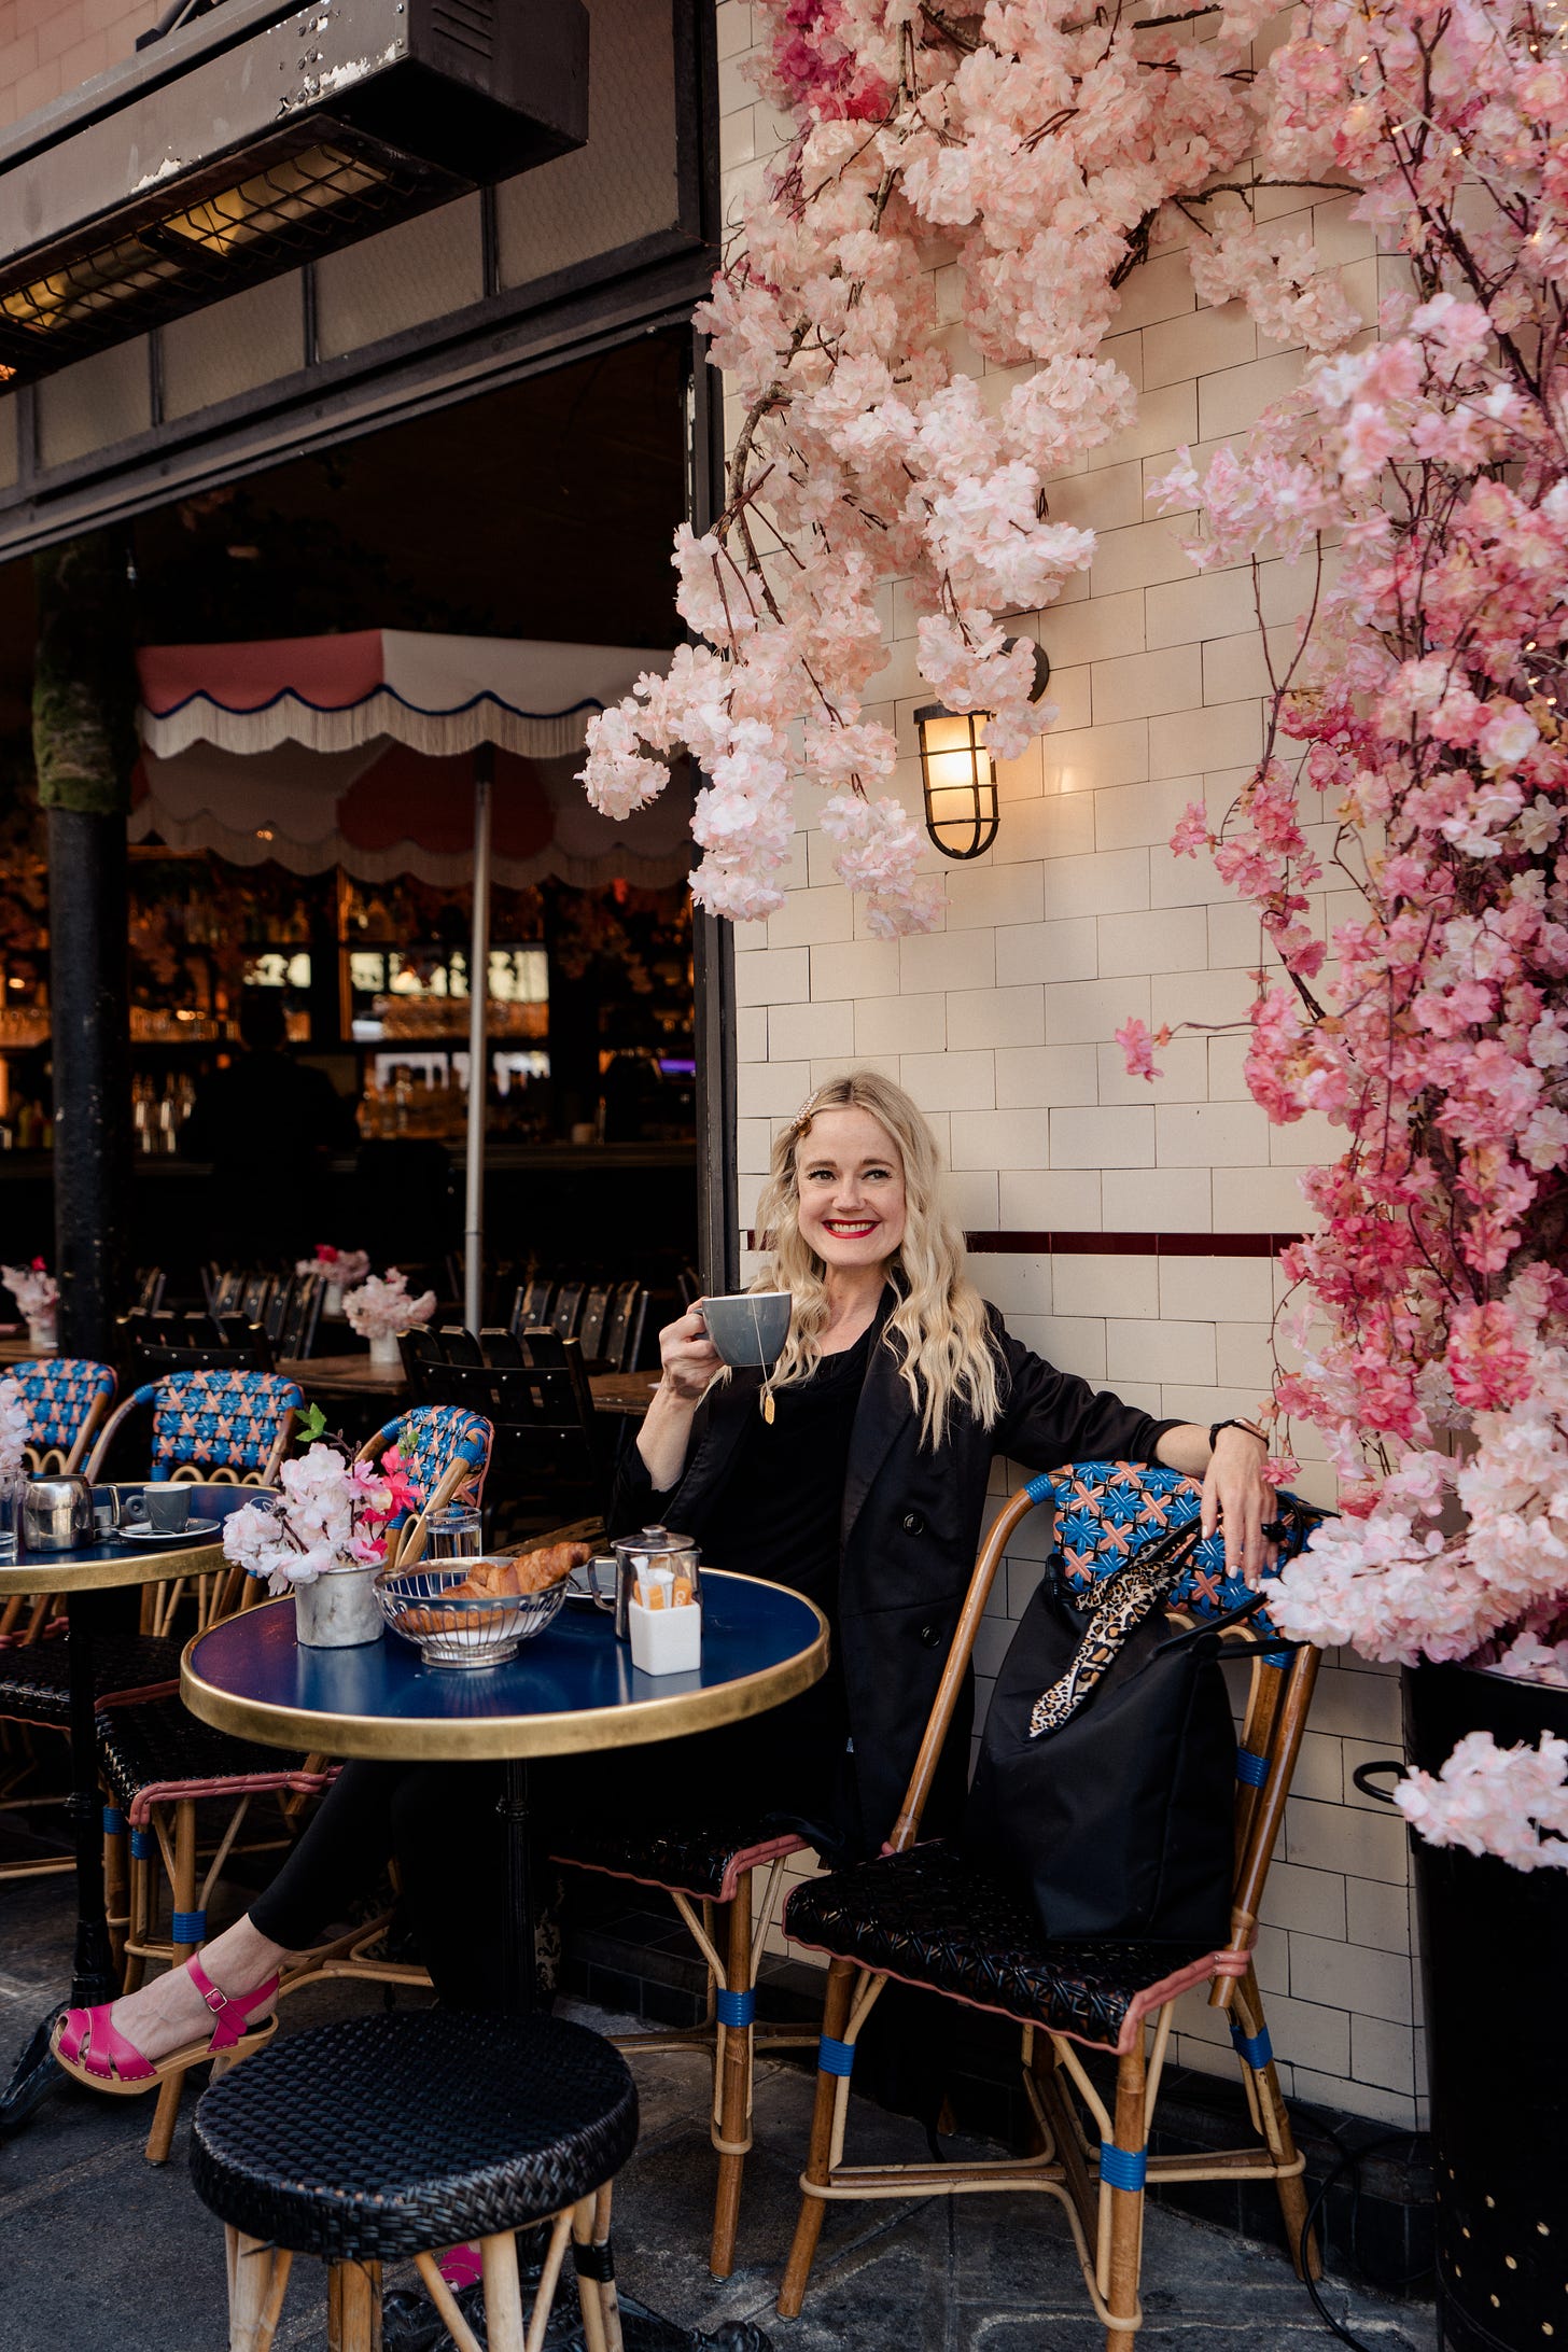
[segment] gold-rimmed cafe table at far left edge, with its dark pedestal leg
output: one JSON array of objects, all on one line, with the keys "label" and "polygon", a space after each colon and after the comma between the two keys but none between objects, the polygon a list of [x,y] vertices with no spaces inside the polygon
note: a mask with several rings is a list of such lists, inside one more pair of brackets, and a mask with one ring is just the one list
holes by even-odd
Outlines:
[{"label": "gold-rimmed cafe table at far left edge, with its dark pedestal leg", "polygon": [[[120,1494],[139,1494],[139,1484],[122,1486]],[[94,1486],[94,1501],[106,1503],[110,1486]],[[254,1486],[190,1486],[190,1508],[197,1517],[223,1517],[240,1503],[254,1503]],[[106,1543],[85,1543],[75,1552],[24,1552],[12,1566],[0,1566],[0,1602],[14,1592],[61,1592],[66,1597],[66,1677],[71,1703],[71,1797],[66,1811],[75,1832],[75,1964],[71,1973],[71,2006],[92,2009],[110,2002],[120,1990],[108,1945],[108,1915],[103,1900],[103,1799],[99,1797],[99,1733],[94,1710],[94,1618],[96,1595],[115,1585],[155,1585],[174,1576],[205,1576],[223,1564],[221,1541],[153,1543],[146,1538],[110,1536]],[[26,1651],[12,1651],[26,1656]],[[0,2096],[0,2131],[19,2124],[59,2077],[49,2058],[52,2009],[35,2030],[26,2051],[16,2060],[9,2089]]]}]

